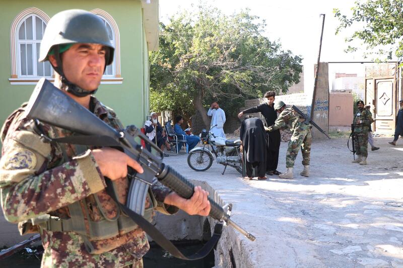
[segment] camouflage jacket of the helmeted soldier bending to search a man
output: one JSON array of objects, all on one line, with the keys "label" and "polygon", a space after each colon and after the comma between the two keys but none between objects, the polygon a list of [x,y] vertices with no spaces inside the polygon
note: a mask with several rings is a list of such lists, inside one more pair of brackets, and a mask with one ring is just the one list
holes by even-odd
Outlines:
[{"label": "camouflage jacket of the helmeted soldier bending to search a man", "polygon": [[268,127],[269,131],[276,129],[289,128],[291,132],[305,130],[312,128],[311,124],[306,123],[304,118],[300,118],[299,115],[291,108],[286,108],[281,112],[279,117],[274,122],[274,125]]}]

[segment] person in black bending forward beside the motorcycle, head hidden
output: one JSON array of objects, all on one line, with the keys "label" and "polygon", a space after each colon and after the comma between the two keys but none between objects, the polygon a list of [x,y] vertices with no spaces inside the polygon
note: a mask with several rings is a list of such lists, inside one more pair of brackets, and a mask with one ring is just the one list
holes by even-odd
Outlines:
[{"label": "person in black bending forward beside the motorcycle, head hidden", "polygon": [[241,124],[240,139],[246,166],[246,179],[252,180],[253,168],[258,180],[266,176],[266,134],[260,119],[246,116]]}]

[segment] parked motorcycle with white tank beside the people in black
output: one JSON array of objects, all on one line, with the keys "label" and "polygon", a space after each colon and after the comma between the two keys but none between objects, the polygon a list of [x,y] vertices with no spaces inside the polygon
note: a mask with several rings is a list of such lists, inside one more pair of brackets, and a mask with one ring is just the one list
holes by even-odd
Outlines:
[{"label": "parked motorcycle with white tank beside the people in black", "polygon": [[[212,126],[212,129],[215,126]],[[203,146],[190,150],[187,156],[187,164],[195,171],[206,171],[213,164],[214,156],[219,164],[224,165],[224,172],[227,166],[232,166],[242,174],[242,152],[241,140],[227,140],[216,137],[211,131],[206,129],[201,131],[201,142]]]}]

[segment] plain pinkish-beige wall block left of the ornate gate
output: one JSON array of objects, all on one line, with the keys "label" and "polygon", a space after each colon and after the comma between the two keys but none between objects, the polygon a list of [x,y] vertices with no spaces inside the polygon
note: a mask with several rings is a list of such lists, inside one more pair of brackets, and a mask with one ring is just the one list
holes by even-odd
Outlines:
[{"label": "plain pinkish-beige wall block left of the ornate gate", "polygon": [[353,95],[330,93],[329,126],[350,126],[353,121]]}]

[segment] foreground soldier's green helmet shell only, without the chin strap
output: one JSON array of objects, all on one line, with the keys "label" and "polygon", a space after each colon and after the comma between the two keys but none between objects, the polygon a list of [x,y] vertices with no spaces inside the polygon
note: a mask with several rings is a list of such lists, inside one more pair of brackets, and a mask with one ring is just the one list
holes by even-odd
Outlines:
[{"label": "foreground soldier's green helmet shell only, without the chin strap", "polygon": [[54,15],[46,26],[40,46],[39,61],[48,59],[54,46],[93,43],[109,48],[105,66],[113,61],[112,46],[105,23],[95,14],[85,10],[65,10]]}]

